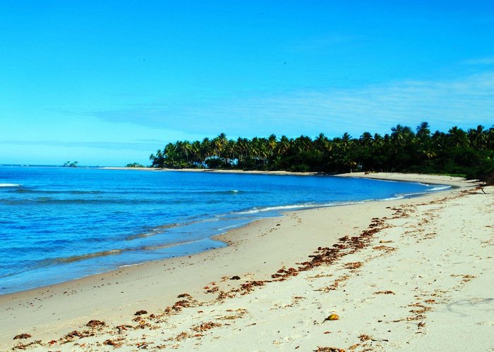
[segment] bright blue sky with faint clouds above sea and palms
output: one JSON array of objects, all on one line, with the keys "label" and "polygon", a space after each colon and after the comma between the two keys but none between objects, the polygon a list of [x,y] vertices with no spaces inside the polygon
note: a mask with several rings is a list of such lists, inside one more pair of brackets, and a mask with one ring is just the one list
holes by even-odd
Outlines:
[{"label": "bright blue sky with faint clouds above sea and palms", "polygon": [[0,164],[494,124],[493,1],[0,1]]}]

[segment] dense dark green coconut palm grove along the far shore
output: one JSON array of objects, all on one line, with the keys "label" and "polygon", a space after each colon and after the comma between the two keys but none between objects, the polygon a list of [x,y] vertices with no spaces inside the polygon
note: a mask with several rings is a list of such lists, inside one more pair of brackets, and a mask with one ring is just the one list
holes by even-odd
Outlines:
[{"label": "dense dark green coconut palm grove along the far shore", "polygon": [[328,138],[300,136],[228,139],[222,133],[202,141],[177,141],[151,154],[152,168],[215,168],[299,172],[421,172],[493,179],[494,126],[452,127],[431,132],[428,122],[414,131],[397,125],[390,134],[344,133]]}]

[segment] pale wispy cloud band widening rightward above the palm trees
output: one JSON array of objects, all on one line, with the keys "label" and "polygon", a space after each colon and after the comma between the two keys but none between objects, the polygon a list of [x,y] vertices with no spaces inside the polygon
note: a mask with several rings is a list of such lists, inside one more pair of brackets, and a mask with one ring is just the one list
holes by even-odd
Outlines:
[{"label": "pale wispy cloud band widening rightward above the palm trees", "polygon": [[201,136],[226,132],[231,137],[276,134],[330,136],[363,131],[389,132],[399,124],[433,129],[453,125],[490,127],[494,121],[494,72],[457,80],[406,80],[359,89],[305,90],[227,100],[153,103],[113,111],[98,118],[134,122]]}]

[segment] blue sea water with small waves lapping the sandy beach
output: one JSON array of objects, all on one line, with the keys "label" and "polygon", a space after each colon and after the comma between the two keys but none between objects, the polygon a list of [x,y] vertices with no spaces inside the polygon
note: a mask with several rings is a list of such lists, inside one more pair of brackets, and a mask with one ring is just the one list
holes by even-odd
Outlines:
[{"label": "blue sea water with small waves lapping the sandy beach", "polygon": [[294,175],[0,166],[0,294],[224,246],[282,210],[445,187]]}]

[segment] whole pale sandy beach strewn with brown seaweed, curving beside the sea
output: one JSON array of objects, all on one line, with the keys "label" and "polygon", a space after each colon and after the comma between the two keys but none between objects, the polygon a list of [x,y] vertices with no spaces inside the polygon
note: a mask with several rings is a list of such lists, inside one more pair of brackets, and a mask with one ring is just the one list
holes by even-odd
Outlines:
[{"label": "whole pale sandy beach strewn with brown seaweed, curving beside the sea", "polygon": [[350,176],[460,188],[291,212],[222,249],[0,296],[0,349],[492,351],[494,187]]}]

